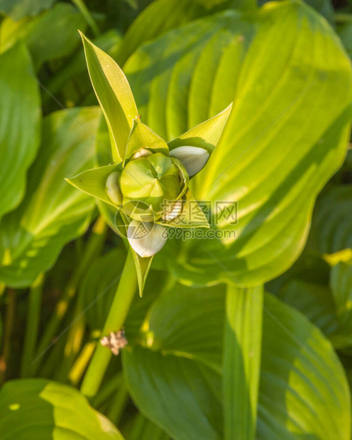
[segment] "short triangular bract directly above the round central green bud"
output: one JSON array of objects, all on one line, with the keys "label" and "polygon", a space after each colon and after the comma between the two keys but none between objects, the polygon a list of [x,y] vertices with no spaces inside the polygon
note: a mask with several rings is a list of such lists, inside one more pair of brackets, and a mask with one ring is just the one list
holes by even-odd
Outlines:
[{"label": "short triangular bract directly above the round central green bud", "polygon": [[141,123],[137,119],[133,120],[133,126],[128,138],[125,159],[128,159],[141,148],[153,151],[153,153],[163,153],[169,155],[167,143],[154,133],[151,128]]}]

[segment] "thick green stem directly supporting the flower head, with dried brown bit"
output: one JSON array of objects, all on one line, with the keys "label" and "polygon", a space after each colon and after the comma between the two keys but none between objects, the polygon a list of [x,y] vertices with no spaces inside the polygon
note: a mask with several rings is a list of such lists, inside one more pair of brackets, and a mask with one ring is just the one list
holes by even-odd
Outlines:
[{"label": "thick green stem directly supporting the flower head, with dried brown bit", "polygon": [[[134,267],[133,256],[131,252],[128,252],[114,301],[111,304],[101,336],[107,336],[111,331],[119,331],[121,329],[131,306],[136,287],[136,268]],[[84,375],[81,387],[81,392],[84,395],[92,397],[97,394],[110,359],[111,351],[99,344],[94,352],[92,361],[89,363],[87,373]]]}]

